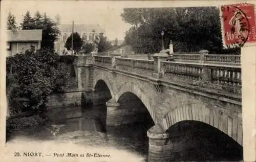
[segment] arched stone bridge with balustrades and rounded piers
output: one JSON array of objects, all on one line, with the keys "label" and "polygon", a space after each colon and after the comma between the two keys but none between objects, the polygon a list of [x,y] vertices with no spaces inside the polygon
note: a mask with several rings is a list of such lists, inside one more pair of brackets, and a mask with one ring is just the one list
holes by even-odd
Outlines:
[{"label": "arched stone bridge with balustrades and rounded piers", "polygon": [[140,109],[144,105],[154,122],[147,131],[148,161],[172,158],[174,145],[168,129],[182,121],[206,123],[243,145],[241,66],[237,56],[210,57],[202,51],[197,56],[183,56],[183,61],[175,55],[178,62],[166,61],[165,53],[152,58],[84,55],[75,59],[79,89],[93,98],[105,96],[94,104],[106,104],[107,126],[144,120],[140,118],[146,113]]}]

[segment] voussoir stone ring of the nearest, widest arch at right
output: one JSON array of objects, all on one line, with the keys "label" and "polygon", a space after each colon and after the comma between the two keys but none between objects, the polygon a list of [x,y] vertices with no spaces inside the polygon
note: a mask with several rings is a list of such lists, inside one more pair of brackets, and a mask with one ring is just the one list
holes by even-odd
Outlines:
[{"label": "voussoir stone ring of the nearest, widest arch at right", "polygon": [[234,115],[227,115],[218,109],[211,109],[200,104],[187,104],[170,110],[162,119],[163,129],[182,121],[198,121],[224,132],[243,146],[242,122]]}]

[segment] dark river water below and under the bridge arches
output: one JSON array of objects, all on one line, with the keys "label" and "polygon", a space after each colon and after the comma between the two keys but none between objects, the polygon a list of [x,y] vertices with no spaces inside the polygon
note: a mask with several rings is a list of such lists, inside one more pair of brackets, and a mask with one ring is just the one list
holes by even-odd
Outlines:
[{"label": "dark river water below and under the bridge arches", "polygon": [[[87,107],[82,117],[62,120],[44,127],[19,132],[11,141],[19,140],[20,135],[36,140],[72,142],[91,147],[113,148],[129,152],[138,161],[147,161],[148,138],[146,131],[151,122],[105,127],[106,108]],[[223,133],[197,122],[180,123],[169,129],[175,140],[176,161],[239,161],[242,147]],[[134,162],[136,162],[134,160]]]}]

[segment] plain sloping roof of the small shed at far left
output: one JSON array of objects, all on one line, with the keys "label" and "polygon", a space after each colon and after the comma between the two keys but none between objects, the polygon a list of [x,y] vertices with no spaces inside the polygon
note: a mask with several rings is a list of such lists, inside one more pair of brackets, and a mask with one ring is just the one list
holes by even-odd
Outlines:
[{"label": "plain sloping roof of the small shed at far left", "polygon": [[7,30],[7,41],[41,41],[42,30]]}]

